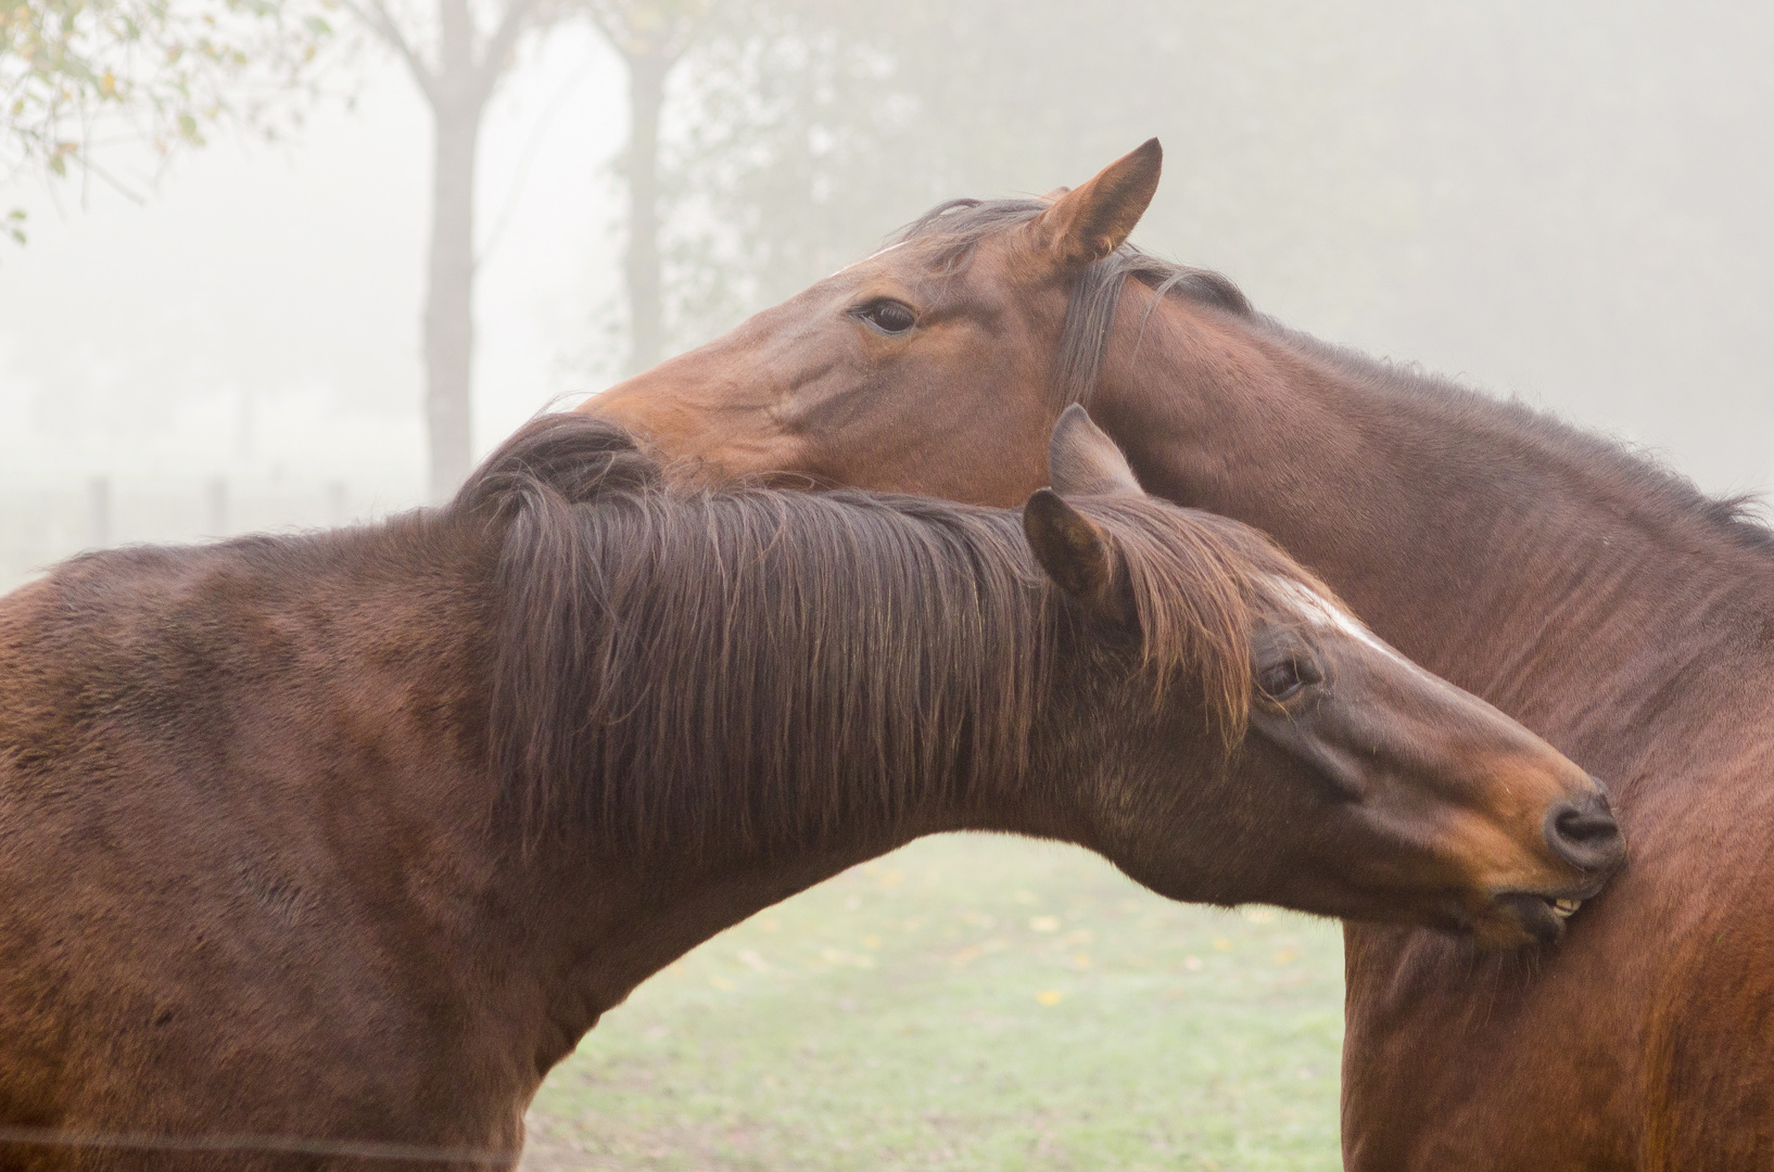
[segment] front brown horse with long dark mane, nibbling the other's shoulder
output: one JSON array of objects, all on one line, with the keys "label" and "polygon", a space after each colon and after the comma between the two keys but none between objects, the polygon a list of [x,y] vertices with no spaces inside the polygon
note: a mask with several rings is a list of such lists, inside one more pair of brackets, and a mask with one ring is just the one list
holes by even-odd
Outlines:
[{"label": "front brown horse with long dark mane, nibbling the other's shoulder", "polygon": [[649,973],[940,830],[1495,947],[1620,863],[1588,775],[1267,539],[1082,411],[1054,463],[1020,516],[672,495],[550,417],[440,512],[11,594],[0,1161],[507,1165]]}]

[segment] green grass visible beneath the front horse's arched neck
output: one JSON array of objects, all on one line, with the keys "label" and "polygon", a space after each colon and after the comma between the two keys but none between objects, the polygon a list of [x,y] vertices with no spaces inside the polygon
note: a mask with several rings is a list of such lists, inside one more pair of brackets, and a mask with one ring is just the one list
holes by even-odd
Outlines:
[{"label": "green grass visible beneath the front horse's arched neck", "polygon": [[1341,998],[1336,924],[928,839],[637,989],[525,1168],[1338,1168]]}]

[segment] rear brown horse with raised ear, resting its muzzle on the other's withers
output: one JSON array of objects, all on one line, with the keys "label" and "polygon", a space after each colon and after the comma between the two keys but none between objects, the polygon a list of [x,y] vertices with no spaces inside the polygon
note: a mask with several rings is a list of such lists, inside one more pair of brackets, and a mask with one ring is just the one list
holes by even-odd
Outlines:
[{"label": "rear brown horse with raised ear, resting its muzzle on the other's withers", "polygon": [[[1352,1168],[1774,1167],[1774,534],[1549,417],[1123,241],[1157,142],[960,200],[587,410],[710,475],[1020,500],[1068,402],[1614,785],[1634,867],[1531,956],[1352,926]],[[791,477],[793,479],[793,477]]]}]

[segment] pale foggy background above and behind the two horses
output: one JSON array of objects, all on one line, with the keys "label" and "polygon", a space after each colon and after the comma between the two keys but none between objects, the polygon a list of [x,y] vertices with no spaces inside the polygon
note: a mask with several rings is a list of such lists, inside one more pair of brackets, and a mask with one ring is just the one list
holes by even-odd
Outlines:
[{"label": "pale foggy background above and behind the two horses", "polygon": [[[1141,246],[1708,491],[1774,486],[1774,7],[717,7],[665,78],[660,353],[940,199],[1077,184],[1158,135]],[[624,59],[546,16],[483,122],[475,454],[651,356]],[[0,191],[30,211],[28,245],[0,243],[0,589],[99,539],[426,496],[431,113],[373,37],[335,74],[349,108],[280,145],[216,135],[142,202],[78,176]]]}]

